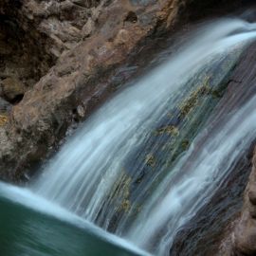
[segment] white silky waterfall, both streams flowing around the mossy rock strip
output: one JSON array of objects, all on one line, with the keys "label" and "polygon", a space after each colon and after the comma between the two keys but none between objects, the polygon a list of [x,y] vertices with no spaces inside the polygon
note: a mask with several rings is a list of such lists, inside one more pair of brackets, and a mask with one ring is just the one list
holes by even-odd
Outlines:
[{"label": "white silky waterfall, both streams flowing around the mossy rock strip", "polygon": [[[233,108],[226,116],[208,109],[205,122],[200,124],[204,128],[194,133],[190,144],[185,143],[189,147],[172,165],[163,168],[155,164],[153,155],[146,155],[137,169],[131,159],[140,157],[139,148],[147,144],[169,106],[178,105],[184,96],[189,103],[175,109],[179,115],[190,112],[188,106],[196,106],[193,91],[198,84],[192,82],[193,78],[204,84],[196,93],[207,95],[206,101],[211,102],[214,86],[225,81],[243,48],[255,36],[256,24],[240,19],[221,19],[201,27],[170,60],[123,89],[86,120],[30,189],[103,229],[111,229],[117,218],[117,227],[113,228],[117,234],[150,252],[168,255],[177,230],[208,200],[254,138],[255,99],[242,102],[239,110]],[[219,74],[218,82],[214,78],[205,81],[210,66],[227,62],[229,66]],[[187,124],[184,121],[182,129],[188,130]],[[161,136],[179,133],[174,125],[158,132]],[[135,168],[127,174],[126,165]],[[141,182],[137,175],[144,174],[145,166],[157,170]],[[130,188],[135,179],[137,195],[132,196]],[[141,204],[141,209],[136,210],[130,197]]]}]

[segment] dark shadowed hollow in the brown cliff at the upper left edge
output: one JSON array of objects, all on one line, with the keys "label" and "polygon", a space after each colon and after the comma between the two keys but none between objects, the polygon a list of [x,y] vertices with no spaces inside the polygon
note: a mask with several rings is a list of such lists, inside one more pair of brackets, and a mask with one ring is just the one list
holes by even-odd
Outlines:
[{"label": "dark shadowed hollow in the brown cliff at the upper left edge", "polygon": [[1,13],[0,20],[0,114],[8,115],[54,62],[18,19]]}]

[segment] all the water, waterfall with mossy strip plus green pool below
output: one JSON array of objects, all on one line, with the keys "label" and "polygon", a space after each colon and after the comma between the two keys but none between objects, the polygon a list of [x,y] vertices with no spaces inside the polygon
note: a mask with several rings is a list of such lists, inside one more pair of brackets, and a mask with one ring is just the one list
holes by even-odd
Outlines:
[{"label": "all the water, waterfall with mossy strip plus green pool below", "polygon": [[225,99],[255,37],[256,24],[241,19],[198,28],[87,119],[29,191],[0,184],[4,254],[169,255],[255,138],[255,92]]}]

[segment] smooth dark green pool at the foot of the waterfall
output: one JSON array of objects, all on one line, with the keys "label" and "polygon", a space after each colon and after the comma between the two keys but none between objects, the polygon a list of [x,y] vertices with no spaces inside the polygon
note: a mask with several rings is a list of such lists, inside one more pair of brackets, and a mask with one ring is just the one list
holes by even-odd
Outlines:
[{"label": "smooth dark green pool at the foot of the waterfall", "polygon": [[[10,192],[9,192],[10,188]],[[6,190],[10,194],[6,196]],[[11,190],[14,190],[12,192]],[[16,192],[17,191],[17,192]],[[18,192],[21,191],[21,194]],[[15,194],[16,193],[16,194]],[[26,193],[26,192],[25,192]],[[48,212],[51,205],[40,198],[30,200],[22,189],[0,184],[0,255],[1,256],[135,256],[141,253],[114,243],[115,238],[90,224],[74,223],[58,219]],[[20,196],[33,203],[37,201],[41,211],[27,207],[15,198]],[[18,199],[19,200],[19,199]],[[30,203],[29,203],[30,204]],[[46,212],[44,212],[44,208]],[[54,210],[51,210],[54,211]],[[56,213],[58,211],[55,210]],[[66,214],[60,210],[63,215]],[[57,214],[57,213],[56,213]],[[67,213],[68,214],[68,213]],[[102,233],[101,233],[102,232]],[[119,239],[119,238],[117,238]],[[111,241],[114,241],[113,243]],[[123,242],[125,244],[125,242]]]}]

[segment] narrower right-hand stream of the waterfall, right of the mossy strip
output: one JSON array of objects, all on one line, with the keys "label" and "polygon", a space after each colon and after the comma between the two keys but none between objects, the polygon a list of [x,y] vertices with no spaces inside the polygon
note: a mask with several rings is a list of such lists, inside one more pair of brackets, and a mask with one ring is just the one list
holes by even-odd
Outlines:
[{"label": "narrower right-hand stream of the waterfall, right of the mossy strip", "polygon": [[[241,92],[240,92],[241,93]],[[129,229],[127,237],[140,247],[151,247],[157,231],[157,255],[168,255],[177,229],[207,202],[239,157],[245,154],[256,132],[256,97],[241,109],[225,113],[194,139],[190,150],[166,176],[154,198],[147,203]],[[219,118],[219,117],[218,117]],[[167,227],[164,227],[166,224]],[[139,238],[139,239],[138,239]]]}]

